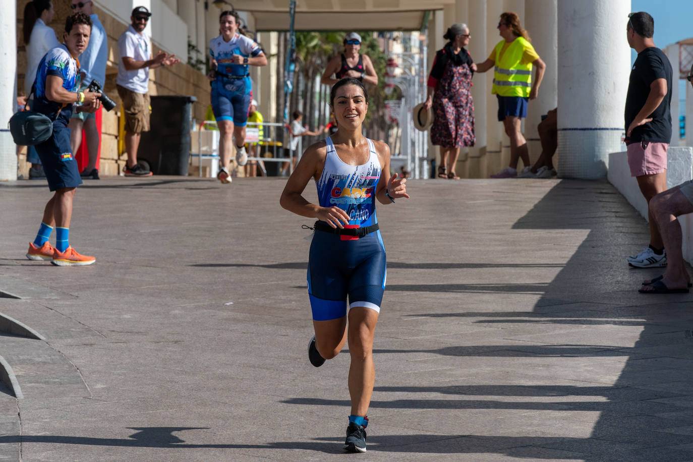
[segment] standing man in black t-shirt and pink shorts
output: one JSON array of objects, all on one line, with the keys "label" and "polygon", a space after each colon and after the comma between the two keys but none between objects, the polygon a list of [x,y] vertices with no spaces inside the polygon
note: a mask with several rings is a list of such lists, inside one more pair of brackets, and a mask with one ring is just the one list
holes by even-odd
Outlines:
[{"label": "standing man in black t-shirt and pink shorts", "polygon": [[[672,64],[654,46],[654,20],[644,11],[632,13],[628,44],[638,52],[626,96],[625,127],[628,164],[647,200],[667,189],[667,148],[672,141]],[[649,212],[650,242],[628,264],[636,268],[667,265],[664,242]]]}]

